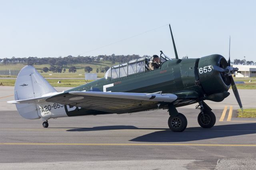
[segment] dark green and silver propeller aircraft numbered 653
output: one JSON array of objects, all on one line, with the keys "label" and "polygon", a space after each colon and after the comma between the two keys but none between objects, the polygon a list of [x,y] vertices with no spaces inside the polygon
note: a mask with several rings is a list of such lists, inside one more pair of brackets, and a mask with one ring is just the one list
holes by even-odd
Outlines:
[{"label": "dark green and silver propeller aircraft numbered 653", "polygon": [[[170,32],[172,36],[171,28]],[[193,103],[199,104],[199,125],[213,127],[216,117],[204,101],[223,101],[230,95],[230,86],[242,108],[232,78],[238,69],[230,67],[230,57],[228,61],[218,54],[179,59],[173,36],[172,42],[176,59],[160,51],[158,69],[150,70],[150,58],[142,57],[111,67],[102,79],[63,92],[57,92],[28,65],[20,71],[15,101],[9,103],[15,103],[26,119],[41,118],[45,128],[51,118],[168,109],[168,126],[174,132],[182,132],[187,126],[186,117],[176,107]]]}]

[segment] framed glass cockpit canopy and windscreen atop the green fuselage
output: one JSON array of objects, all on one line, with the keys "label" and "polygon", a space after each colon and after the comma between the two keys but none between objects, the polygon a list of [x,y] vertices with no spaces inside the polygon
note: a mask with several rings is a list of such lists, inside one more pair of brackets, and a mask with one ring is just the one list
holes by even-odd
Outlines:
[{"label": "framed glass cockpit canopy and windscreen atop the green fuselage", "polygon": [[[170,60],[168,57],[160,57],[161,65],[166,60]],[[116,79],[120,77],[126,77],[129,75],[133,75],[135,73],[150,71],[149,69],[150,58],[142,57],[139,59],[134,59],[129,61],[128,63],[123,63],[119,65],[112,66],[105,73],[105,79]]]}]

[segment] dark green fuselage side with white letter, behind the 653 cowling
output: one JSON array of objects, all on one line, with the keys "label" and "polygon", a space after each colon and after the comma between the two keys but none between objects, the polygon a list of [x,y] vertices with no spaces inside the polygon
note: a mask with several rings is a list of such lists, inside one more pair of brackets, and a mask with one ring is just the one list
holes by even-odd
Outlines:
[{"label": "dark green fuselage side with white letter, behind the 653 cowling", "polygon": [[116,79],[102,78],[69,91],[111,91],[133,93],[174,93],[196,91],[202,94],[195,84],[198,77],[199,59],[173,59],[162,63],[159,69],[143,71]]}]

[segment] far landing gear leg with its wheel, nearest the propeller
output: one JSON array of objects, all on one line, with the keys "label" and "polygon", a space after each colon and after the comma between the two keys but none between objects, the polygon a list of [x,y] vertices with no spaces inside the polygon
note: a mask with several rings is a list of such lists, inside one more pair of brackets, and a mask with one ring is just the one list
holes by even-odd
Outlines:
[{"label": "far landing gear leg with its wheel, nearest the propeller", "polygon": [[214,113],[211,111],[212,109],[204,103],[204,101],[199,101],[199,105],[196,109],[200,107],[200,113],[197,117],[198,124],[202,128],[211,128],[216,123],[216,117]]}]

